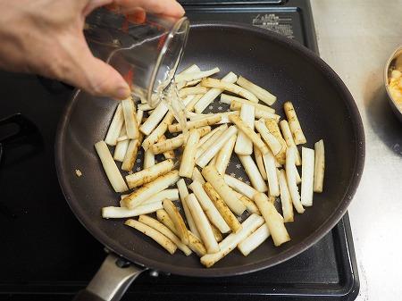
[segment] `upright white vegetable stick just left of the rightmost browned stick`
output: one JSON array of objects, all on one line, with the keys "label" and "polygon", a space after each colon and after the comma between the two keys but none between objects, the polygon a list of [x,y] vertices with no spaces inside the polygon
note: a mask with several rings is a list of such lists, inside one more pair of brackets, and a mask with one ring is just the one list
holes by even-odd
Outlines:
[{"label": "upright white vegetable stick just left of the rightmost browned stick", "polygon": [[302,147],[302,160],[301,204],[311,206],[313,205],[314,149]]}]

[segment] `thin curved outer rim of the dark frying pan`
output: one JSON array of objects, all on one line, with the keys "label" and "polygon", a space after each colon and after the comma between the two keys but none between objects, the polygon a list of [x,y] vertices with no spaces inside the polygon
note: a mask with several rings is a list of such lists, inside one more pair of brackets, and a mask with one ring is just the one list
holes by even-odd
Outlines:
[{"label": "thin curved outer rim of the dark frying pan", "polygon": [[357,109],[356,102],[353,96],[350,94],[348,88],[342,79],[339,78],[338,74],[335,73],[331,69],[331,67],[325,63],[317,54],[315,54],[310,49],[302,46],[297,41],[291,40],[290,38],[286,38],[266,29],[259,29],[250,25],[245,25],[241,23],[235,22],[194,22],[191,24],[190,29],[204,29],[204,28],[216,28],[216,29],[241,29],[246,31],[251,31],[253,34],[263,35],[264,38],[268,38],[275,43],[280,43],[281,45],[288,46],[292,49],[292,51],[298,52],[302,54],[302,56],[306,57],[310,63],[314,65],[315,68],[322,69],[325,73],[326,77],[331,80],[334,85],[334,88],[339,91],[339,94],[344,97],[344,103],[347,105],[348,112],[350,113],[352,128],[354,131],[354,136],[356,139],[356,162],[353,168],[353,175],[348,183],[348,188],[345,190],[345,195],[342,200],[339,201],[339,205],[336,210],[330,215],[330,217],[322,223],[322,225],[314,230],[308,237],[306,237],[303,241],[298,243],[297,245],[290,247],[288,250],[282,252],[280,255],[275,255],[272,258],[267,258],[265,260],[261,260],[255,263],[249,263],[246,265],[239,265],[235,267],[219,267],[219,268],[209,268],[205,269],[200,265],[199,268],[195,267],[183,267],[183,266],[175,266],[169,263],[163,263],[159,261],[155,261],[152,259],[148,259],[144,255],[140,255],[138,253],[134,253],[131,250],[128,250],[117,242],[115,242],[112,238],[109,238],[102,231],[96,229],[93,224],[90,222],[85,222],[84,214],[80,214],[79,210],[79,202],[73,198],[71,183],[69,183],[63,174],[67,172],[63,166],[63,138],[65,136],[66,125],[69,121],[70,112],[73,109],[74,105],[77,102],[78,97],[80,96],[81,91],[77,90],[74,95],[71,97],[70,103],[65,106],[62,118],[59,122],[57,134],[55,138],[55,166],[57,177],[60,183],[60,187],[62,188],[63,195],[71,207],[71,211],[75,214],[80,223],[89,231],[89,233],[96,238],[100,243],[102,243],[105,247],[116,253],[117,255],[121,255],[132,263],[138,264],[143,267],[147,267],[149,269],[155,269],[161,272],[172,272],[173,274],[182,275],[182,276],[194,276],[194,277],[229,277],[236,276],[241,274],[246,274],[250,272],[257,272],[266,268],[269,268],[273,265],[285,262],[290,258],[302,253],[307,248],[312,247],[314,243],[321,240],[343,217],[343,215],[347,212],[348,205],[350,204],[353,196],[356,193],[356,188],[360,182],[362,172],[364,169],[364,155],[365,155],[365,139],[364,139],[364,127],[363,122],[360,116],[360,113]]}]

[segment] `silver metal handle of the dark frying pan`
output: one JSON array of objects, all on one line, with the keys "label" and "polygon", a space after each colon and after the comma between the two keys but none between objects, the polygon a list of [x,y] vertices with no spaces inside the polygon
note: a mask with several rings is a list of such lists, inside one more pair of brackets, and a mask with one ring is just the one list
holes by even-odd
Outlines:
[{"label": "silver metal handle of the dark frying pan", "polygon": [[119,301],[131,282],[146,270],[110,253],[88,287],[80,290],[73,301]]}]

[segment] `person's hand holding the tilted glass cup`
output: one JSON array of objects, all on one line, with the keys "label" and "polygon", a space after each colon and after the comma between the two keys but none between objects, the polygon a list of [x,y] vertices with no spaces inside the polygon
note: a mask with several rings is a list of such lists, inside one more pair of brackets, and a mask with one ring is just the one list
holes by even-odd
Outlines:
[{"label": "person's hand holding the tilted glass cup", "polygon": [[175,0],[0,0],[0,68],[62,80],[96,96],[123,99],[120,73],[94,57],[84,38],[86,16],[105,4],[180,17]]}]

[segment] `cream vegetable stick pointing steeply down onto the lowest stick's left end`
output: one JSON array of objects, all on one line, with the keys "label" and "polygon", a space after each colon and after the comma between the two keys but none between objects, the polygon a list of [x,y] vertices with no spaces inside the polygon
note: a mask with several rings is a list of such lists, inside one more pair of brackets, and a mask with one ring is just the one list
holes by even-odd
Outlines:
[{"label": "cream vegetable stick pointing steeply down onto the lowest stick's left end", "polygon": [[188,209],[191,212],[191,216],[196,222],[198,233],[204,242],[207,253],[216,253],[219,251],[218,243],[214,238],[214,232],[210,223],[206,219],[205,213],[198,203],[197,197],[194,194],[189,194],[186,197]]}]

